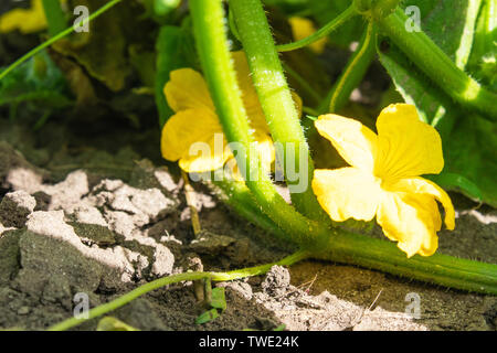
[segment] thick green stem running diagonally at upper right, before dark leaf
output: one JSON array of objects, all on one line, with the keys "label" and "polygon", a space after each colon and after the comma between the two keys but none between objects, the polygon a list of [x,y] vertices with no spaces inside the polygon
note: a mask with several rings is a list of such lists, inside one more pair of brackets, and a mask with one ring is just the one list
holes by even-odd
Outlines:
[{"label": "thick green stem running diagonally at upper right, before dark leaf", "polygon": [[408,32],[406,21],[408,17],[398,8],[391,15],[378,19],[378,24],[446,94],[461,105],[497,121],[497,94],[459,69],[424,32]]}]

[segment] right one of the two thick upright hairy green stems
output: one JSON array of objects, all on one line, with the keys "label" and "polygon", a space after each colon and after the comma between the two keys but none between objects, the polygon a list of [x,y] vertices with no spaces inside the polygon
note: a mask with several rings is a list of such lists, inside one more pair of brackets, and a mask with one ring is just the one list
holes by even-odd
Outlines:
[{"label": "right one of the two thick upright hairy green stems", "polygon": [[[310,188],[314,162],[263,6],[260,0],[231,0],[230,8],[271,135],[282,147],[276,149],[277,160],[285,167],[292,202],[307,217],[327,222]],[[289,163],[295,164],[298,175],[288,172]]]}]

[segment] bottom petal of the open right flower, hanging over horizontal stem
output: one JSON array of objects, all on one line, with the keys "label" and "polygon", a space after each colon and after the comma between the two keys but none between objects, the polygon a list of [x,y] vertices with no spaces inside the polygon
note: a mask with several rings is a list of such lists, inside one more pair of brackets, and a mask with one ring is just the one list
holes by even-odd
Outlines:
[{"label": "bottom petal of the open right flower, hanging over horizontal stem", "polygon": [[438,247],[441,218],[435,200],[426,194],[383,192],[377,222],[408,257],[431,256]]}]

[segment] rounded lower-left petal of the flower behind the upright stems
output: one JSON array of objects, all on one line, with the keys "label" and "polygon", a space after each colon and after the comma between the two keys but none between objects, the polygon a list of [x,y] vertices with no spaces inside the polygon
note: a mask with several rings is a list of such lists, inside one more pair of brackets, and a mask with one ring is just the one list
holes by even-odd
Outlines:
[{"label": "rounded lower-left petal of the flower behind the upright stems", "polygon": [[[204,142],[203,147],[205,149],[211,148],[210,143],[214,138],[214,133],[222,133],[222,131],[223,129],[218,121],[218,117],[211,110],[181,110],[170,117],[162,128],[160,141],[162,157],[169,161],[184,159],[182,163],[186,167],[184,170],[189,172],[190,168],[187,165],[192,165],[195,159],[194,156],[190,156],[190,148],[193,143]],[[212,153],[214,153],[213,150]]]}]

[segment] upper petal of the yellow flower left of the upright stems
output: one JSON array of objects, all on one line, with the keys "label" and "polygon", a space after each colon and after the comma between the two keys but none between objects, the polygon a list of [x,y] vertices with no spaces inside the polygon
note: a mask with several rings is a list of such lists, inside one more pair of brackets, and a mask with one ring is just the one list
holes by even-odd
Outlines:
[{"label": "upper petal of the yellow flower left of the upright stems", "polygon": [[169,106],[176,113],[197,108],[215,111],[205,81],[194,69],[172,71],[163,93]]}]

